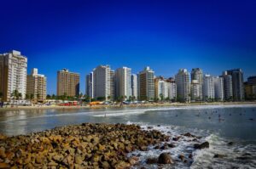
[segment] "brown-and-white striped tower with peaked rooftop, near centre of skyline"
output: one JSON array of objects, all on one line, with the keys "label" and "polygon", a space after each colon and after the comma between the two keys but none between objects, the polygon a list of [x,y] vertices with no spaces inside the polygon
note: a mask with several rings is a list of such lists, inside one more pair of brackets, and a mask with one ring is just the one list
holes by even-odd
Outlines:
[{"label": "brown-and-white striped tower with peaked rooftop, near centre of skyline", "polygon": [[138,75],[139,99],[154,100],[154,71],[147,66]]}]

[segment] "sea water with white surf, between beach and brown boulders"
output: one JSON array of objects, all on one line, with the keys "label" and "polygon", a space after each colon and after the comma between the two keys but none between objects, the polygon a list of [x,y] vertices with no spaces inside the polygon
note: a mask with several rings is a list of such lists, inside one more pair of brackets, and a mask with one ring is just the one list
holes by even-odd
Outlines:
[{"label": "sea water with white surf, between beach and brown boulders", "polygon": [[[177,159],[177,154],[193,153],[193,161],[187,164],[177,161],[175,166],[166,168],[256,168],[256,104],[117,110],[0,111],[0,132],[9,136],[83,122],[136,123],[144,129],[152,126],[172,137],[191,132],[201,136],[201,142],[210,143],[210,149],[195,150],[192,149],[194,142],[182,138],[178,143],[174,143],[177,148],[166,151],[169,151],[174,159]],[[228,146],[229,142],[234,142],[234,145]],[[159,155],[160,152],[151,149],[137,153],[142,155],[140,161],[145,166],[146,158]],[[216,159],[213,158],[215,154],[226,156]],[[239,159],[245,155],[249,157],[245,160]],[[151,167],[157,166],[148,166]]]}]

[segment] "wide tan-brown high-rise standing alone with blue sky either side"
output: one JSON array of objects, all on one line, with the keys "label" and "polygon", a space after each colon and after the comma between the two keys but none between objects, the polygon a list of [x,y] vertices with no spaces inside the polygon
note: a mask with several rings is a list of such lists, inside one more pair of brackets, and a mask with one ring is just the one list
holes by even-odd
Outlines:
[{"label": "wide tan-brown high-rise standing alone with blue sky either side", "polygon": [[79,73],[70,72],[67,69],[57,72],[57,95],[74,97],[79,95]]}]

